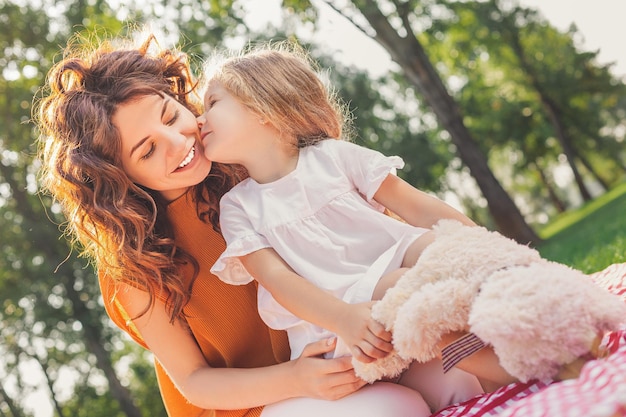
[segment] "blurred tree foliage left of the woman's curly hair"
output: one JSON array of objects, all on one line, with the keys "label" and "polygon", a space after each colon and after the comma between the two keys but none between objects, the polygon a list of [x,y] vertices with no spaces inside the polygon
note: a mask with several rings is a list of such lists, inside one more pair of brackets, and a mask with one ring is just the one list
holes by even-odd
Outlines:
[{"label": "blurred tree foliage left of the woman's curly hair", "polygon": [[[3,415],[29,414],[36,403],[33,395],[42,390],[59,416],[165,413],[162,404],[152,400],[154,377],[137,379],[142,364],[150,366],[149,358],[134,353],[135,373],[125,372],[124,382],[116,372],[114,358],[126,342],[105,319],[93,269],[60,236],[59,210],[38,193],[37,132],[29,123],[33,97],[39,95],[52,62],[61,58],[59,45],[81,32],[83,41],[92,39],[91,33],[123,33],[124,13],[144,12],[126,6],[113,11],[101,0],[0,2]],[[138,384],[149,388],[131,394],[129,387]],[[145,399],[137,395],[142,391]]]}]

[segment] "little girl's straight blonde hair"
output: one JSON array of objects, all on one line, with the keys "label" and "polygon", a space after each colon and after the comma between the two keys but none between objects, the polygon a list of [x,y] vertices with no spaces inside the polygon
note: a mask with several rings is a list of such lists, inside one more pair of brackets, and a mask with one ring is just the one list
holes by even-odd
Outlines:
[{"label": "little girl's straight blonde hair", "polygon": [[216,54],[205,84],[219,82],[243,105],[301,148],[327,138],[347,139],[349,114],[318,67],[294,42],[266,43],[238,55]]}]

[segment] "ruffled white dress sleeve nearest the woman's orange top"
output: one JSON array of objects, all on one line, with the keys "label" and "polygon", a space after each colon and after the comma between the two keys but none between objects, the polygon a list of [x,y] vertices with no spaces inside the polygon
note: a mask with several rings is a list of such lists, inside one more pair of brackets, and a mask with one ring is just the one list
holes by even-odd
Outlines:
[{"label": "ruffled white dress sleeve nearest the woman's orange top", "polygon": [[239,257],[271,245],[254,230],[244,207],[236,198],[236,190],[234,188],[226,193],[220,201],[220,228],[226,241],[226,250],[213,264],[211,272],[228,284],[244,285],[253,281],[253,278]]}]

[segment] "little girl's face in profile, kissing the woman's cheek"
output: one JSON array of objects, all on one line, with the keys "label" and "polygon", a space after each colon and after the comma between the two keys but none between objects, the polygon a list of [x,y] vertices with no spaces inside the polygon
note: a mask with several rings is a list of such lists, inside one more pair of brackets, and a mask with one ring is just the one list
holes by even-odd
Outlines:
[{"label": "little girl's face in profile, kissing the woman's cheek", "polygon": [[247,166],[266,143],[267,126],[260,117],[218,82],[209,84],[198,120],[204,154],[211,161]]}]

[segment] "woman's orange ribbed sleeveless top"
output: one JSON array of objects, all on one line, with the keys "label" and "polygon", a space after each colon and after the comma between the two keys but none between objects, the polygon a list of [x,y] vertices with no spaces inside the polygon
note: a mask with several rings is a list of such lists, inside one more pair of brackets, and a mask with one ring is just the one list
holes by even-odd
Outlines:
[{"label": "woman's orange ribbed sleeveless top", "polygon": [[[225,249],[225,243],[210,225],[198,219],[189,193],[168,206],[168,216],[174,225],[177,245],[195,257],[200,265],[191,300],[184,311],[209,365],[254,368],[288,360],[286,333],[269,329],[259,317],[256,283],[228,285],[209,272]],[[104,304],[113,322],[146,347],[115,298],[115,284],[102,274],[99,278]],[[180,394],[158,361],[155,361],[155,369],[170,417],[258,417],[261,414],[262,407],[229,411],[197,408]]]}]

